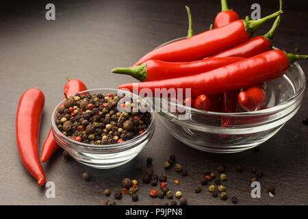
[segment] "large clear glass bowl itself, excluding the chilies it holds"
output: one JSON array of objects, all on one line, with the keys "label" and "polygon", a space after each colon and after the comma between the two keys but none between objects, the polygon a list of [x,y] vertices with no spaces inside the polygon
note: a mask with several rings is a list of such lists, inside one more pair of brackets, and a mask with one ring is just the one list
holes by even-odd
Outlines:
[{"label": "large clear glass bowl itself, excluding the chilies it holds", "polygon": [[[295,62],[283,77],[268,81],[264,110],[219,113],[185,107],[168,99],[155,101],[160,101],[161,105],[159,120],[184,144],[211,153],[236,153],[258,146],[274,136],[298,112],[305,86],[303,69]],[[177,111],[164,110],[162,105],[168,105],[168,109],[177,107]],[[190,112],[185,120],[179,119],[182,115],[179,112],[183,111]],[[233,125],[220,127],[222,120],[226,119],[232,120]]]}]

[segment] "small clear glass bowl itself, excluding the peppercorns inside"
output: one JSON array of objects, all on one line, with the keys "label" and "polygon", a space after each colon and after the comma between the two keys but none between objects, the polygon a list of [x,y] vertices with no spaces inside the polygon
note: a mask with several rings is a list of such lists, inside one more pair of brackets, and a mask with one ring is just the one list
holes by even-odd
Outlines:
[{"label": "small clear glass bowl itself, excluding the peppercorns inside", "polygon": [[[119,90],[112,88],[100,88],[93,90],[86,90],[84,92],[79,92],[79,94],[88,92],[90,94],[115,94]],[[138,95],[132,94],[130,92],[120,91],[120,93],[125,93],[130,95],[133,99],[140,99]],[[115,168],[117,166],[123,165],[129,162],[133,157],[136,157],[138,153],[143,149],[143,147],[151,140],[153,133],[155,131],[154,114],[151,112],[151,124],[148,129],[144,131],[140,136],[127,140],[123,143],[118,144],[107,144],[107,145],[94,145],[86,144],[83,142],[77,142],[71,140],[70,138],[64,136],[64,134],[57,129],[55,125],[55,116],[57,115],[57,108],[63,103],[61,101],[51,117],[53,137],[57,143],[66,150],[71,157],[85,164],[86,166],[91,166],[93,168],[107,169]]]}]

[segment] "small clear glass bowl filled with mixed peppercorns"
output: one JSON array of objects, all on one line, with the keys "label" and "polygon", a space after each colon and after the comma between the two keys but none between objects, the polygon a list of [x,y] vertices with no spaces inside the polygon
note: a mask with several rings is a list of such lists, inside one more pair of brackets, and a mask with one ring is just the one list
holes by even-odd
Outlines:
[{"label": "small clear glass bowl filled with mixed peppercorns", "polygon": [[[128,99],[120,104],[122,94]],[[153,112],[139,110],[146,101],[150,100],[111,88],[68,96],[53,111],[53,136],[82,164],[101,169],[123,165],[140,153],[155,131]],[[138,110],[125,110],[133,105]]]}]

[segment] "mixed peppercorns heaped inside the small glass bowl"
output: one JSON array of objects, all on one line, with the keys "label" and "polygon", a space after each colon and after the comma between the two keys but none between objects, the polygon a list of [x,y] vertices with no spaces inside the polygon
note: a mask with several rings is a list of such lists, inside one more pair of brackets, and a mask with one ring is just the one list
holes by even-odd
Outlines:
[{"label": "mixed peppercorns heaped inside the small glass bowl", "polygon": [[[55,123],[68,138],[88,144],[116,144],[141,135],[151,123],[149,112],[127,112],[138,100],[125,101],[117,94],[75,94],[57,109]],[[150,160],[148,162],[151,162]]]}]

